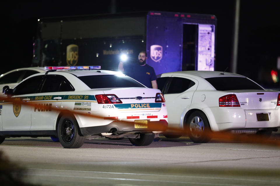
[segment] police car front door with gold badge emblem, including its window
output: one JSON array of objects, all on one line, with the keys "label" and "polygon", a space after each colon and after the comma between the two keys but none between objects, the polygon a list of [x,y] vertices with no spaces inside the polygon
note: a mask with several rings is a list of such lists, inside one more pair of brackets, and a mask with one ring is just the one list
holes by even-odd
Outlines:
[{"label": "police car front door with gold badge emblem, including its window", "polygon": [[[26,103],[31,103],[30,101],[42,83],[42,79],[43,75],[26,79],[13,89],[13,96],[10,97],[11,101],[9,100],[7,103],[2,104],[2,128],[4,134],[30,134],[31,105]],[[12,100],[17,102],[12,102]]]}]

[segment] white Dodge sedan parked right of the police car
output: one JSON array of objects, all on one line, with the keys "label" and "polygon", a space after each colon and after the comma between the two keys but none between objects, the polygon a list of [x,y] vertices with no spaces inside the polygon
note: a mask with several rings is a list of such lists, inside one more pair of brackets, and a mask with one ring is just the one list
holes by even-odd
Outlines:
[{"label": "white Dodge sedan parked right of the police car", "polygon": [[[185,129],[193,142],[208,142],[211,131],[269,136],[280,127],[280,94],[238,74],[180,71],[157,76],[168,127]],[[180,133],[165,133],[179,137]]]}]

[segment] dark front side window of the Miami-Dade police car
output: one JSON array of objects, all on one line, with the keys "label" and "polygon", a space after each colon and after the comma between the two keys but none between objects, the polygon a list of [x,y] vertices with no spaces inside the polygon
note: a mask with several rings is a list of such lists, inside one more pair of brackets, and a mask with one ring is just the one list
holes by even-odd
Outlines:
[{"label": "dark front side window of the Miami-Dade police car", "polygon": [[37,92],[40,84],[42,83],[43,77],[44,77],[43,75],[34,76],[32,78],[23,81],[13,89],[13,94],[22,95],[22,94],[33,94]]}]

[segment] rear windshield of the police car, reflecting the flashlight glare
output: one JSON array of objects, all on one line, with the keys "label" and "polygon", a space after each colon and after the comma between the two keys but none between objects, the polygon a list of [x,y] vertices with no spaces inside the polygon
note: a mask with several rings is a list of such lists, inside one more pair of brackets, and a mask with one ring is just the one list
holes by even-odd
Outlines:
[{"label": "rear windshield of the police car, reflecting the flashlight glare", "polygon": [[121,87],[145,87],[128,76],[119,75],[95,75],[79,76],[91,89],[94,88],[121,88]]}]

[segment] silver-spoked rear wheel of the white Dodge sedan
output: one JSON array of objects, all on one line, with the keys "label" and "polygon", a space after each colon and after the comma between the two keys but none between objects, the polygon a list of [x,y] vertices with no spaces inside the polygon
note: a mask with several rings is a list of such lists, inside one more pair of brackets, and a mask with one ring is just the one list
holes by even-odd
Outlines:
[{"label": "silver-spoked rear wheel of the white Dodge sedan", "polygon": [[203,112],[193,112],[187,120],[186,127],[188,135],[193,142],[207,143],[211,140],[211,128]]}]

